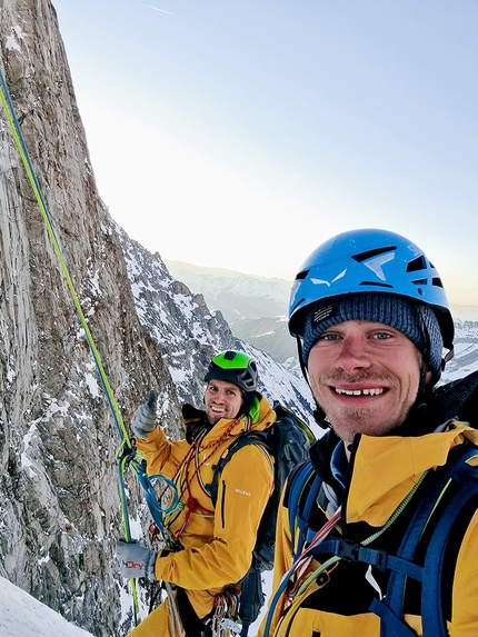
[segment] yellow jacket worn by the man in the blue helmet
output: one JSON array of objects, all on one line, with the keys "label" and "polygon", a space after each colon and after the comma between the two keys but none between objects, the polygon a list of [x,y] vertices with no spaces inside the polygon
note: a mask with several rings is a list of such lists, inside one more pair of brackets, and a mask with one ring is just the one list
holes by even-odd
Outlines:
[{"label": "yellow jacket worn by the man in the blue helmet", "polygon": [[[420,476],[428,469],[445,465],[450,449],[466,440],[478,445],[478,431],[457,421],[450,421],[445,431],[419,437],[362,436],[353,459],[349,490],[342,505],[342,526],[347,526],[347,534],[350,529],[356,529],[364,538],[384,527]],[[469,464],[478,465],[478,451]],[[404,533],[404,526],[400,527],[398,519],[387,531],[389,537],[395,533],[396,540],[401,539]],[[288,510],[282,506],[278,516],[273,591],[292,566],[290,543]],[[377,547],[380,548],[379,544]],[[475,512],[462,538],[452,583],[450,581],[452,610],[451,621],[447,624],[450,637],[478,635],[477,556],[478,514]],[[313,560],[307,574],[315,571],[318,566]],[[365,573],[368,567],[360,567],[364,573],[360,574],[361,580],[357,583],[357,579],[352,579],[353,565],[340,561],[328,576],[321,576],[320,584],[313,580],[308,585],[306,590],[292,600],[282,618],[276,609],[269,637],[379,637],[378,616],[368,611],[368,605],[361,608],[358,601],[366,589],[370,590],[366,595],[377,596],[377,593],[372,591],[370,577]],[[302,581],[306,578],[307,576]],[[372,585],[378,586],[377,580]],[[418,636],[422,635],[419,613],[406,615],[405,619]],[[266,619],[259,631],[261,637],[265,625]]]}]

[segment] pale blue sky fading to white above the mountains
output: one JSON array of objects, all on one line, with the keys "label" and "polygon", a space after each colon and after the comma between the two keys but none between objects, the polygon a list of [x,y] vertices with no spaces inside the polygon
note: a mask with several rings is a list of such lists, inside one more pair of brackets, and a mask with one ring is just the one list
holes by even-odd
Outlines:
[{"label": "pale blue sky fading to white above the mountains", "polygon": [[52,0],[99,192],[165,259],[292,280],[420,246],[478,305],[476,0]]}]

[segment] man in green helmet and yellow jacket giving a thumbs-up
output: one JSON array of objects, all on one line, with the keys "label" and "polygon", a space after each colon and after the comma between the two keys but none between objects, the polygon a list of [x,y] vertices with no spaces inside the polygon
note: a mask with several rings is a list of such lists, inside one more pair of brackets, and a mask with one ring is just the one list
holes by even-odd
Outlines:
[{"label": "man in green helmet and yellow jacket giving a thumbs-up", "polygon": [[276,420],[268,400],[257,391],[256,362],[228,350],[207,370],[205,409],[183,407],[186,439],[167,439],[156,418],[153,400],[141,405],[131,427],[150,475],[176,485],[178,505],[165,517],[165,550],[118,543],[125,577],[171,583],[175,590],[135,628],[135,637],[199,637],[216,610],[233,616],[238,594],[231,585],[248,573],[262,512],[273,489],[271,458],[260,445],[239,449],[223,468],[216,507],[208,486],[226,449],[248,430],[262,431]]}]

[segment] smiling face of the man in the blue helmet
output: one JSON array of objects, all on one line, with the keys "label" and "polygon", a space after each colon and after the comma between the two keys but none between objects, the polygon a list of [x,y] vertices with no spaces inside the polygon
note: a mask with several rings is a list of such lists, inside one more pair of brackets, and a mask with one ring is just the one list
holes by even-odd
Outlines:
[{"label": "smiling face of the man in the blue helmet", "polygon": [[319,337],[308,371],[318,404],[347,445],[356,434],[382,436],[404,422],[417,397],[420,365],[419,350],[400,331],[350,320]]}]

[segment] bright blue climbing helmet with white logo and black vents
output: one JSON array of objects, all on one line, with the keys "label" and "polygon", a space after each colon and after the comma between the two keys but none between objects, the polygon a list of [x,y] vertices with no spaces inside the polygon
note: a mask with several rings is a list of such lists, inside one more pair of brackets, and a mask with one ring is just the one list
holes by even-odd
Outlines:
[{"label": "bright blue climbing helmet with white logo and black vents", "polygon": [[446,360],[452,357],[454,320],[440,275],[418,246],[388,230],[342,232],[306,259],[290,293],[290,334],[303,338],[312,303],[357,292],[399,295],[429,306],[449,350]]}]

